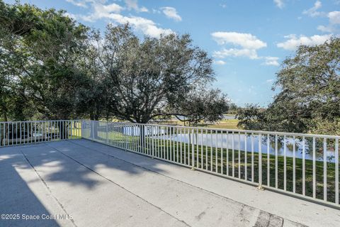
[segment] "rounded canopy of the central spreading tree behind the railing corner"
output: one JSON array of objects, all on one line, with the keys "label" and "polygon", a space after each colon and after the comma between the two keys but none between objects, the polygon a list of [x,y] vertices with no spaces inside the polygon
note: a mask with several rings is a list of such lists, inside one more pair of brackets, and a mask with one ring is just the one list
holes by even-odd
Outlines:
[{"label": "rounded canopy of the central spreading tree behind the railing corner", "polygon": [[[108,106],[118,118],[147,123],[158,116],[187,115],[183,109],[174,111],[169,106],[188,101],[186,94],[214,79],[212,60],[193,46],[189,35],[141,40],[128,25],[108,25],[104,37],[98,34],[94,37],[92,43],[97,52],[94,67],[102,74]],[[202,88],[196,92],[199,93],[205,94],[206,90]],[[217,91],[215,95],[222,96]],[[200,103],[202,107],[204,102],[219,105],[206,99]],[[205,115],[201,120],[210,117]]]}]

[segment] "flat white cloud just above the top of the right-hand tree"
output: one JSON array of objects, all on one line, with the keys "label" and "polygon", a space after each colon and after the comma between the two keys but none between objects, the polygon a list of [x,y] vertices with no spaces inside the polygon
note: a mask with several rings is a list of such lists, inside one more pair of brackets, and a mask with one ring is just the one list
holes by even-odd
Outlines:
[{"label": "flat white cloud just above the top of the right-hand tree", "polygon": [[277,44],[278,48],[295,50],[299,45],[320,45],[326,42],[326,40],[329,40],[331,35],[312,35],[310,37],[305,35],[300,35],[300,37],[297,37],[296,35],[286,35],[285,38],[287,39],[285,42]]}]

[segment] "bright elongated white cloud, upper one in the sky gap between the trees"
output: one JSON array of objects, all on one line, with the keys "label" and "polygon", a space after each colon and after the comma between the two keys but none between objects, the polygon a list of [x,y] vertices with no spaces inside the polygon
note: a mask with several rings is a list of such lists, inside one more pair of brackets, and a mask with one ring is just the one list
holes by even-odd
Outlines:
[{"label": "bright elongated white cloud, upper one in the sky gap between the trees", "polygon": [[255,35],[251,35],[249,33],[215,32],[211,35],[219,45],[232,44],[239,45],[242,48],[254,50],[267,46],[266,43],[256,38]]}]

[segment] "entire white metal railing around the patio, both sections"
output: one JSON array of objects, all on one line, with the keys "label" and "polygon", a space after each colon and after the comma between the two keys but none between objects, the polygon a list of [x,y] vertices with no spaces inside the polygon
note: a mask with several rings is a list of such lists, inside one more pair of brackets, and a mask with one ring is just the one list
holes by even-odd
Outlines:
[{"label": "entire white metal railing around the patio, both sections", "polygon": [[339,207],[339,139],[106,121],[0,122],[0,147],[86,138]]}]

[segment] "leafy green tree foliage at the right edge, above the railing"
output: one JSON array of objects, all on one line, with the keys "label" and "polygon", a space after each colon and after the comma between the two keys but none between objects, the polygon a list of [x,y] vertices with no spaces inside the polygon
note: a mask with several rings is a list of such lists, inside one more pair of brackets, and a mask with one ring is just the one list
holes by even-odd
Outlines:
[{"label": "leafy green tree foliage at the right edge, above the railing", "polygon": [[[268,131],[339,134],[340,38],[301,45],[284,60],[273,89],[280,92],[265,111],[247,106],[239,126]],[[336,129],[337,128],[337,129]]]}]

